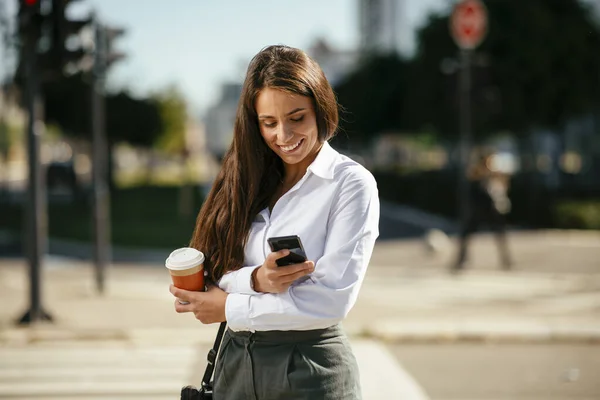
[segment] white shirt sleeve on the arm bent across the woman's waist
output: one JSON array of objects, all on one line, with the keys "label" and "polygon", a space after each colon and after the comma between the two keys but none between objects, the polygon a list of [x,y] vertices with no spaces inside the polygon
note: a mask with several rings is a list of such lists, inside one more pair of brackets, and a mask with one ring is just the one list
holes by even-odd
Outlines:
[{"label": "white shirt sleeve on the arm bent across the woman's waist", "polygon": [[[345,176],[327,224],[324,252],[310,279],[278,294],[227,290],[225,314],[231,329],[306,330],[346,317],[356,302],[379,235],[377,184],[366,169],[353,168]],[[245,284],[246,277],[249,281],[251,271],[240,274],[245,269],[250,270],[242,268],[232,276],[235,285]]]}]

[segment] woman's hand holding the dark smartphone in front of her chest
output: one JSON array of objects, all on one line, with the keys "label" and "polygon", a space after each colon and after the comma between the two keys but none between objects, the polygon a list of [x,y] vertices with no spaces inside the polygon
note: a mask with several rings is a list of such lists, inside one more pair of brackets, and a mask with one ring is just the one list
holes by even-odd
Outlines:
[{"label": "woman's hand holding the dark smartphone in front of her chest", "polygon": [[289,250],[284,249],[269,254],[263,265],[252,272],[255,291],[283,293],[288,290],[296,279],[302,278],[315,270],[315,263],[312,261],[278,267],[276,260],[287,256],[289,253]]}]

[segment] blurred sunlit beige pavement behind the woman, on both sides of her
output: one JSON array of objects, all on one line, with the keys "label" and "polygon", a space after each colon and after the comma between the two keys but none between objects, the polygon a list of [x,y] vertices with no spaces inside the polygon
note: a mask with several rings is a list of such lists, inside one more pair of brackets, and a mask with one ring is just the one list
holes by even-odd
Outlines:
[{"label": "blurred sunlit beige pavement behind the woman, on both sides of her", "polygon": [[[510,242],[514,271],[496,267],[492,237],[480,235],[472,265],[458,276],[447,270],[453,248],[428,254],[418,240],[378,243],[346,330],[386,340],[510,339],[516,333],[530,333],[528,340],[598,339],[600,234],[523,233]],[[154,340],[164,329],[213,336],[212,328],[173,312],[169,275],[159,264],[113,265],[104,296],[95,293],[88,262],[48,257],[44,278],[44,305],[56,323],[15,328],[28,301],[27,268],[25,260],[0,259],[1,341],[41,335]]]}]

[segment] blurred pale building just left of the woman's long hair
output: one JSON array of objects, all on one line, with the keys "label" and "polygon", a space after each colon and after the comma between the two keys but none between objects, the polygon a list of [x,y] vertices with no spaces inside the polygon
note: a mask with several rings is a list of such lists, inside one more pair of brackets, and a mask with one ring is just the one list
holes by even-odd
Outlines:
[{"label": "blurred pale building just left of the woman's long hair", "polygon": [[219,159],[223,157],[233,139],[235,113],[241,93],[241,83],[224,83],[221,85],[219,100],[206,112],[206,148]]}]

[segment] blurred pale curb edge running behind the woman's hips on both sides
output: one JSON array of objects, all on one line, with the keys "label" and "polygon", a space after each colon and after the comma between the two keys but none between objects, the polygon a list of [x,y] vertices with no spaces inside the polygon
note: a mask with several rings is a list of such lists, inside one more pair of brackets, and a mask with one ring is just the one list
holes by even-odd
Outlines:
[{"label": "blurred pale curb edge running behind the woman's hips on both sides", "polygon": [[[465,322],[400,323],[388,321],[362,330],[347,329],[352,340],[375,340],[383,343],[600,343],[600,324],[565,324],[532,322]],[[0,330],[0,346],[32,343],[115,341],[131,343],[172,343],[177,332],[180,344],[212,344],[216,326],[156,329],[73,329],[52,326],[7,328]]]}]

